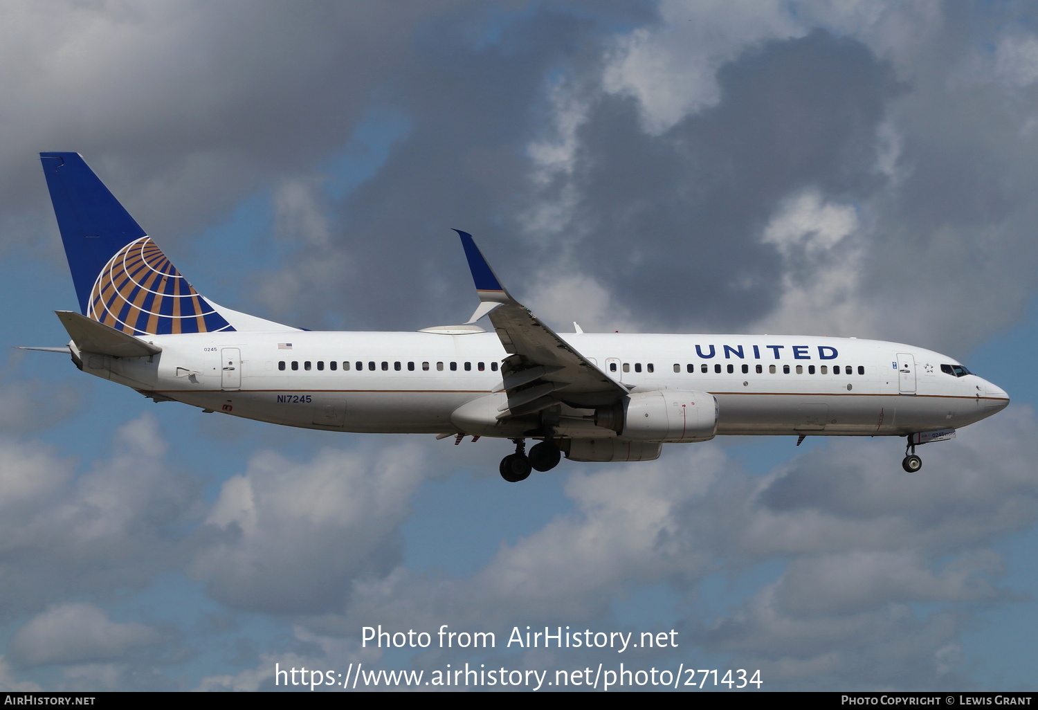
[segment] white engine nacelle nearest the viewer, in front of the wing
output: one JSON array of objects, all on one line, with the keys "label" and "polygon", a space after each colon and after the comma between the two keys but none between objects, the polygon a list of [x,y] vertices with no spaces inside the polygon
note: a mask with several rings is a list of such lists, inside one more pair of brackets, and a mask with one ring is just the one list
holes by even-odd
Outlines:
[{"label": "white engine nacelle nearest the viewer, in front of the wing", "polygon": [[596,422],[638,441],[709,441],[717,433],[717,399],[687,389],[632,392],[620,407],[596,412]]}]

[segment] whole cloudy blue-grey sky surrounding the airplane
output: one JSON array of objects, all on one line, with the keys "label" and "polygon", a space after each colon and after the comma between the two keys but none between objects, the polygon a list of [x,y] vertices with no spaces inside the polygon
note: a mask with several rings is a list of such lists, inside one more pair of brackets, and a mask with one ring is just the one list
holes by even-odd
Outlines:
[{"label": "whole cloudy blue-grey sky surrounding the airplane", "polygon": [[[0,86],[8,346],[66,340],[36,154],[74,151],[201,294],[278,322],[464,322],[457,227],[563,332],[909,343],[1013,399],[914,474],[897,439],[721,437],[511,485],[504,441],[279,429],[8,348],[0,689],[1036,689],[1033,3],[16,1]],[[668,640],[506,645],[527,626]]]}]

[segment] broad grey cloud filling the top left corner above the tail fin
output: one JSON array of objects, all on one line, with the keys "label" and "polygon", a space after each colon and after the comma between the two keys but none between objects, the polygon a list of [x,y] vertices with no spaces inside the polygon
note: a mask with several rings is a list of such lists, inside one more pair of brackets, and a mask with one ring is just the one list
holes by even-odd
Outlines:
[{"label": "broad grey cloud filling the top left corner above the tail fin", "polygon": [[4,210],[45,210],[34,153],[77,151],[152,234],[198,228],[345,143],[416,24],[464,4],[8,5]]}]

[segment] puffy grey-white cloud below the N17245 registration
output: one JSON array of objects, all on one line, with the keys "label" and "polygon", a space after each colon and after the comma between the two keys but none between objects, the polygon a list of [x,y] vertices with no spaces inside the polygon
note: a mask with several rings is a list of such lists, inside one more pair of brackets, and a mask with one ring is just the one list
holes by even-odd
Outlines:
[{"label": "puffy grey-white cloud below the N17245 registration", "polygon": [[417,449],[324,449],[295,463],[273,452],[228,479],[207,523],[222,530],[193,564],[210,593],[269,613],[334,610],[355,578],[400,559],[400,523],[422,477]]}]

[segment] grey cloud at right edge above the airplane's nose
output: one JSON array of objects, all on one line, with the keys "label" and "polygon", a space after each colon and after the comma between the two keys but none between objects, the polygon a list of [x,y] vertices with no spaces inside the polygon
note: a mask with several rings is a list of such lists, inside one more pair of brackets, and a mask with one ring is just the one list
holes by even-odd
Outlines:
[{"label": "grey cloud at right edge above the airplane's nose", "polygon": [[[1038,87],[971,76],[963,49],[892,115],[901,134],[896,189],[874,202],[861,296],[877,311],[940,307],[948,317],[891,318],[881,335],[956,355],[1018,318],[1038,282]],[[919,335],[914,342],[921,342]]]}]

